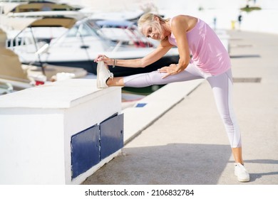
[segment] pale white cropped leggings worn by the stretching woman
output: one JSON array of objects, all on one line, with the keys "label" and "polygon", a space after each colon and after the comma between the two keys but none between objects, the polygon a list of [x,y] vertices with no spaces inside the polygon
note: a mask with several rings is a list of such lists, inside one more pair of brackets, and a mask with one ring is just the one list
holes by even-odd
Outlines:
[{"label": "pale white cropped leggings worn by the stretching woman", "polygon": [[232,148],[242,146],[240,128],[237,124],[235,113],[232,109],[232,71],[227,70],[220,75],[206,75],[200,72],[195,65],[188,65],[186,70],[177,75],[170,75],[164,79],[163,73],[158,71],[130,75],[123,77],[125,87],[147,87],[150,85],[165,85],[171,82],[183,82],[205,78],[212,87],[217,110],[224,122],[225,129]]}]

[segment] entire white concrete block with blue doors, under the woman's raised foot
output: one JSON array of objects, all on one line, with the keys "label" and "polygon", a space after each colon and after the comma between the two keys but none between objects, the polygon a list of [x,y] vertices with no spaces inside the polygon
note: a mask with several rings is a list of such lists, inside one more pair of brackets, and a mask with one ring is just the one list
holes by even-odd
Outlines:
[{"label": "entire white concrete block with blue doors, under the woman's raised foot", "polygon": [[[85,181],[123,146],[120,112],[120,87],[99,90],[96,80],[64,80],[1,96],[0,184]],[[105,145],[103,138],[113,141]],[[73,151],[81,161],[73,160]],[[73,169],[73,161],[85,169]]]}]

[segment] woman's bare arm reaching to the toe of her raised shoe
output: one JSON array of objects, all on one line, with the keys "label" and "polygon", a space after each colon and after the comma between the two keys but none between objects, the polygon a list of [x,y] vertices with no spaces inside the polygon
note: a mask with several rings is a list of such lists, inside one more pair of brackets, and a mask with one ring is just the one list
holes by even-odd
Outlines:
[{"label": "woman's bare arm reaching to the toe of her raised shoe", "polygon": [[160,42],[160,45],[158,45],[158,47],[155,50],[153,50],[153,52],[149,53],[144,58],[132,60],[114,60],[113,58],[108,58],[105,55],[98,55],[98,57],[94,61],[103,61],[107,65],[114,65],[115,62],[115,65],[121,67],[145,68],[147,65],[150,65],[151,63],[154,63],[155,61],[162,58],[163,55],[165,55],[168,52],[168,50],[170,50],[170,48],[172,47],[173,45],[171,45],[168,39],[166,38],[165,40]]}]

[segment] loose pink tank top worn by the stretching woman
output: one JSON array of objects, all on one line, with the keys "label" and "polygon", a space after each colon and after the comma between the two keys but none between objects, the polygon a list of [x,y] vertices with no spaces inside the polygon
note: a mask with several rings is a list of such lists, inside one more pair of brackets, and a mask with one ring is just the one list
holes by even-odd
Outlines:
[{"label": "loose pink tank top worn by the stretching woman", "polygon": [[[230,55],[215,31],[198,18],[194,28],[187,32],[187,41],[192,58],[190,63],[196,65],[208,75],[220,75],[231,68]],[[168,37],[172,45],[177,45],[173,33]]]}]

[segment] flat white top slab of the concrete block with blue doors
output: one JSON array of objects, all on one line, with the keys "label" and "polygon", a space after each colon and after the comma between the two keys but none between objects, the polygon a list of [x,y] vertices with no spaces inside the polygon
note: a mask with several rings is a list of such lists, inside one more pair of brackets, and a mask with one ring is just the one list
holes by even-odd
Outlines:
[{"label": "flat white top slab of the concrete block with blue doors", "polygon": [[[101,95],[105,95],[112,90],[120,90],[120,88],[109,87],[109,89],[98,89],[96,87],[96,80],[86,79],[70,79],[51,82],[47,85],[31,87],[26,90],[11,93],[10,95],[1,96],[0,108],[69,108]],[[16,96],[17,99],[20,98],[20,100],[16,100],[14,96]],[[119,100],[120,98],[118,101]]]}]

